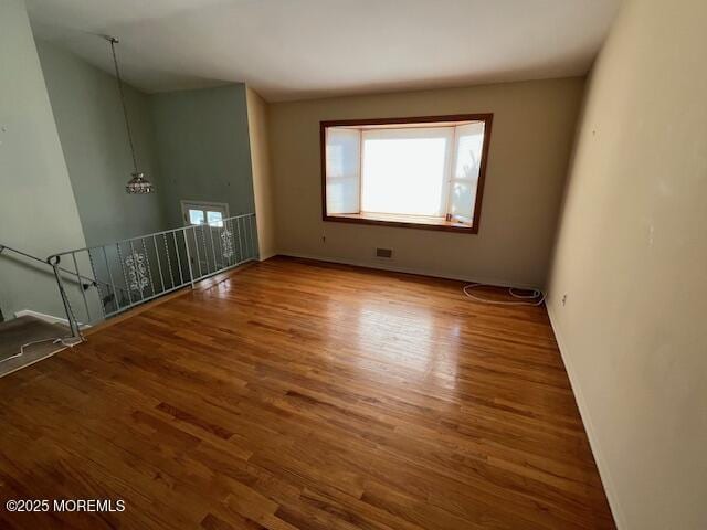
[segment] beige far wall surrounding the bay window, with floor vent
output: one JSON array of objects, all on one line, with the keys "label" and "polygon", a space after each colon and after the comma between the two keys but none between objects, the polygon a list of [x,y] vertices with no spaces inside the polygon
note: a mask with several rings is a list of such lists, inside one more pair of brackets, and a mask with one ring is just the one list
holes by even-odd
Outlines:
[{"label": "beige far wall surrounding the bay window, with floor vent", "polygon": [[[507,83],[270,106],[276,243],[282,254],[544,285],[583,78]],[[478,235],[321,221],[319,121],[494,113]],[[393,248],[394,259],[373,257]]]}]

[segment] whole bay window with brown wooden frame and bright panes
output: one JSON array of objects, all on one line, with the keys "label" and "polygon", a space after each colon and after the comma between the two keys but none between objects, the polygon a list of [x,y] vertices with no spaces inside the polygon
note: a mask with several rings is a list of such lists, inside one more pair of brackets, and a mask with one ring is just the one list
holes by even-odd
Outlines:
[{"label": "whole bay window with brown wooden frame and bright panes", "polygon": [[324,220],[476,233],[490,121],[323,121]]}]

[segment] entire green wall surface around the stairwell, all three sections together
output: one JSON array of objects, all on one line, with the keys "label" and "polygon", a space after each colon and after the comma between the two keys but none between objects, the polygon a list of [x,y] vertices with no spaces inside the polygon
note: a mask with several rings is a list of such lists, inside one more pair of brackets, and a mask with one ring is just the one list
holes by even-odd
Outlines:
[{"label": "entire green wall surface around the stairwell, all three sections together", "polygon": [[[113,75],[35,42],[21,0],[0,2],[0,244],[45,258],[182,226],[181,200],[254,212],[245,85],[156,95],[126,86],[138,167],[157,188],[128,195],[133,163]],[[0,310],[22,309],[64,316],[51,268],[6,252]]]}]

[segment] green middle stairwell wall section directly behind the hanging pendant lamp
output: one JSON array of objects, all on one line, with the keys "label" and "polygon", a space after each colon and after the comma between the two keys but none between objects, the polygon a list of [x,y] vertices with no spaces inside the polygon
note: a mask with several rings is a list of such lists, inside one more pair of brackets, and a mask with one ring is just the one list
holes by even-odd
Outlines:
[{"label": "green middle stairwell wall section directly behind the hanging pendant lamp", "polygon": [[[133,159],[113,75],[48,42],[36,42],[46,89],[88,245],[112,243],[169,227],[155,157],[150,98],[124,85],[138,168],[157,193],[129,195]],[[107,42],[96,38],[96,46]]]}]

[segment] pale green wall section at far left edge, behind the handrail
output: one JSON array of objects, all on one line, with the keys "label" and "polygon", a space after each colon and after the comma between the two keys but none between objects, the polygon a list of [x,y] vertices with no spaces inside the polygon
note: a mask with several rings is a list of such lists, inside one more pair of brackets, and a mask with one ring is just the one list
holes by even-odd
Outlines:
[{"label": "pale green wall section at far left edge, behind the handrail", "polygon": [[[0,1],[0,244],[39,257],[85,245],[24,2]],[[51,268],[0,255],[0,306],[64,316]]]}]

